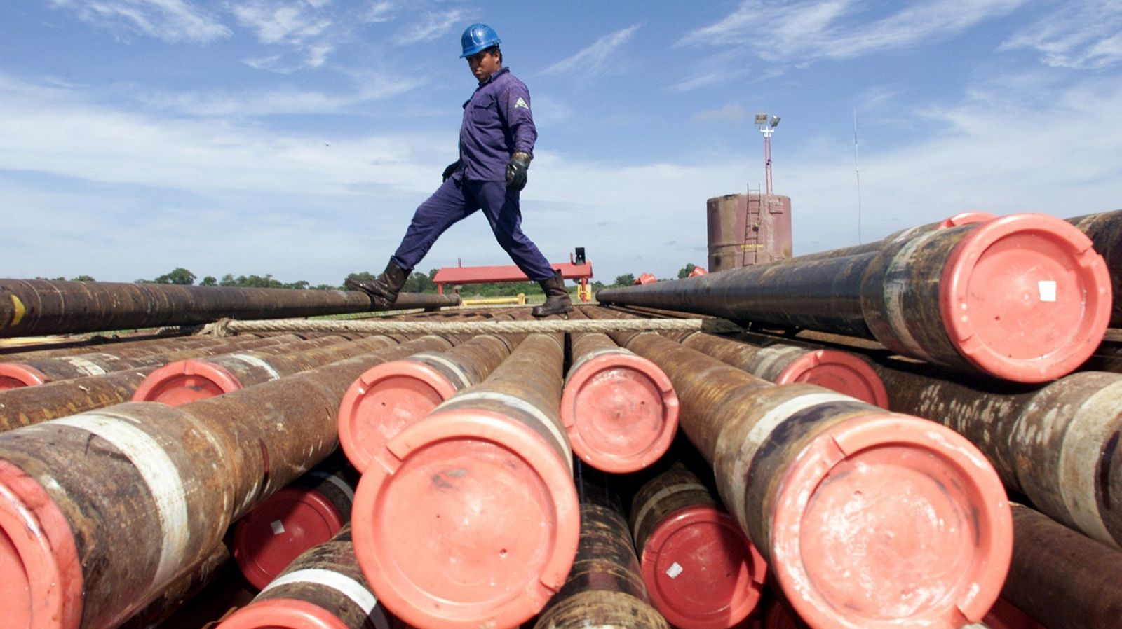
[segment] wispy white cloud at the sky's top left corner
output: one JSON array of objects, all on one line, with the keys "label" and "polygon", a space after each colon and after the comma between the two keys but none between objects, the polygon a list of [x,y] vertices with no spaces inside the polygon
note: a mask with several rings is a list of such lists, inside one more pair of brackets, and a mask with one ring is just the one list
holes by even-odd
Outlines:
[{"label": "wispy white cloud at the sky's top left corner", "polygon": [[205,44],[230,29],[186,0],[50,0],[100,28],[137,33],[167,43]]}]

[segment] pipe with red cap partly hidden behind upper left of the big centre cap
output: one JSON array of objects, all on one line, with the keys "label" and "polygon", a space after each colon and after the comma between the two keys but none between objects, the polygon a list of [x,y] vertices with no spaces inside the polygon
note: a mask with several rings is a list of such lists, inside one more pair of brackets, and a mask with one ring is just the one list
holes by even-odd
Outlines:
[{"label": "pipe with red cap partly hidden behind upper left of the big centre cap", "polygon": [[359,376],[339,407],[339,442],[360,472],[386,444],[458,391],[482,382],[521,336],[481,334],[443,352],[384,362]]}]

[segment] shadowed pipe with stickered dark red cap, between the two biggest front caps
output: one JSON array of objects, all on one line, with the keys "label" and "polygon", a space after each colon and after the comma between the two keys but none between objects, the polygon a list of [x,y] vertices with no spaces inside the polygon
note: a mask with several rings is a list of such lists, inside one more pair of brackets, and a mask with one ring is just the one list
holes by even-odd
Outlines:
[{"label": "shadowed pipe with stickered dark red cap, between the two biggest front caps", "polygon": [[651,602],[674,627],[729,629],[755,611],[767,564],[684,465],[640,488],[631,530]]}]

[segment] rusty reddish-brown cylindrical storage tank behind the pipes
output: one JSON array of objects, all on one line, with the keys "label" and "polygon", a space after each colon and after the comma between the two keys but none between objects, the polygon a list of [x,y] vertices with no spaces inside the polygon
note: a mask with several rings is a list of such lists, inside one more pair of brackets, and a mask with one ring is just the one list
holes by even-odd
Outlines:
[{"label": "rusty reddish-brown cylindrical storage tank behind the pipes", "polygon": [[791,197],[726,194],[706,202],[709,272],[791,257]]}]

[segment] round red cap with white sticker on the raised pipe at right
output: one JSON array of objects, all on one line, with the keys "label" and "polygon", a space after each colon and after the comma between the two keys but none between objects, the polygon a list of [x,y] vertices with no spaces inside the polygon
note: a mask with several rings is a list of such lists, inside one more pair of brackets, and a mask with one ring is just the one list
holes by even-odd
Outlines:
[{"label": "round red cap with white sticker on the raised pipe at right", "polygon": [[951,344],[978,369],[1018,382],[1070,373],[1111,318],[1111,277],[1091,239],[1067,221],[1012,214],[980,224],[939,285]]}]

